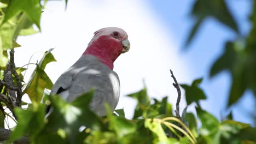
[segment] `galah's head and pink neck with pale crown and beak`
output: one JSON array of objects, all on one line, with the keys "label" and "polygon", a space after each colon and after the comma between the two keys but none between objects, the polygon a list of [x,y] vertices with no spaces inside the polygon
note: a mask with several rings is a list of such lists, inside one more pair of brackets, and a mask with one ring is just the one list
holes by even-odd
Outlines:
[{"label": "galah's head and pink neck with pale crown and beak", "polygon": [[118,27],[106,27],[94,34],[83,55],[93,55],[113,69],[115,59],[130,49],[127,33]]}]

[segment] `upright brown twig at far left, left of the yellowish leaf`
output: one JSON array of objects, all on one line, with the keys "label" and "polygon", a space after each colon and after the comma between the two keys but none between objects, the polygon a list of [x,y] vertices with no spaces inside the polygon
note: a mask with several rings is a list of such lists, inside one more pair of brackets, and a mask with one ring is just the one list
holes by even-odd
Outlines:
[{"label": "upright brown twig at far left, left of the yellowish leaf", "polygon": [[16,98],[16,106],[21,106],[21,98],[22,98],[22,85],[21,85],[21,80],[20,76],[18,75],[17,71],[15,70],[15,63],[14,63],[14,49],[10,51],[10,67],[11,67],[11,73],[14,75],[16,82],[17,82],[17,98]]}]

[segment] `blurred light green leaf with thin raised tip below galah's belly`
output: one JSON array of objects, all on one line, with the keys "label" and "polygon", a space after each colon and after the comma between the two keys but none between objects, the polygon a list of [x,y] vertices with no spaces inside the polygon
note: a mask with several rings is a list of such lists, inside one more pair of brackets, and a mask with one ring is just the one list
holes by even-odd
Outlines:
[{"label": "blurred light green leaf with thin raised tip below galah's belly", "polygon": [[112,110],[108,104],[105,104],[109,118],[109,129],[115,131],[119,137],[123,137],[128,134],[135,133],[136,127],[131,121],[128,121],[124,117],[117,117],[113,115]]}]

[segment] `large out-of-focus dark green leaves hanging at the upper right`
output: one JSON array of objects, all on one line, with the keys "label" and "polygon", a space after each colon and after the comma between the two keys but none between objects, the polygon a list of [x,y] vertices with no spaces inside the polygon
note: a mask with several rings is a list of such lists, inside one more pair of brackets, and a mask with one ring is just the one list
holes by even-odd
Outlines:
[{"label": "large out-of-focus dark green leaves hanging at the upper right", "polygon": [[228,28],[234,30],[237,39],[226,41],[224,53],[214,62],[211,67],[210,76],[213,77],[223,70],[228,70],[232,76],[231,88],[229,92],[228,106],[235,104],[245,93],[251,90],[256,98],[256,2],[252,3],[251,15],[248,21],[251,22],[251,31],[248,35],[240,35],[238,24],[234,20],[228,9],[225,0],[196,0],[190,13],[195,20],[195,25],[191,28],[185,46],[191,43],[201,23],[207,17],[213,17]]}]

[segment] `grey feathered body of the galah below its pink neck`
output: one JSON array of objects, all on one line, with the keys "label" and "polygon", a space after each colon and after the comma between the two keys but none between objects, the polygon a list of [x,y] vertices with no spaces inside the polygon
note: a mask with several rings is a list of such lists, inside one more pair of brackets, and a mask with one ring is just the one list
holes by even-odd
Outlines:
[{"label": "grey feathered body of the galah below its pink neck", "polygon": [[[83,55],[57,79],[51,94],[59,94],[69,102],[92,88],[95,92],[90,103],[91,110],[99,116],[105,116],[107,113],[104,103],[108,103],[114,111],[120,95],[117,73],[101,63],[98,58]],[[62,91],[58,92],[60,89]]]}]

